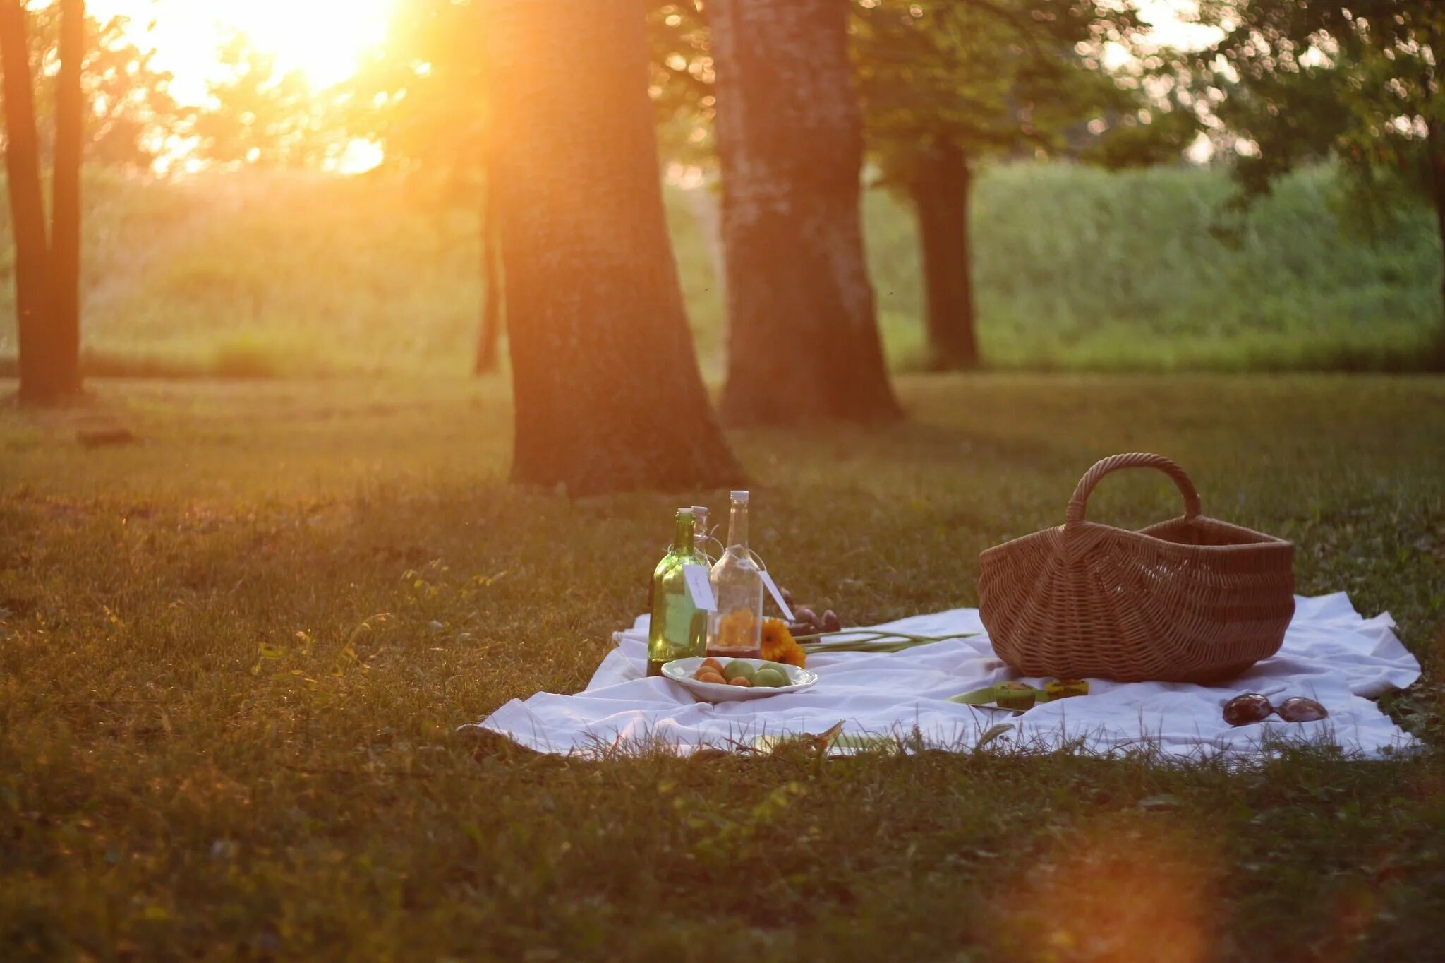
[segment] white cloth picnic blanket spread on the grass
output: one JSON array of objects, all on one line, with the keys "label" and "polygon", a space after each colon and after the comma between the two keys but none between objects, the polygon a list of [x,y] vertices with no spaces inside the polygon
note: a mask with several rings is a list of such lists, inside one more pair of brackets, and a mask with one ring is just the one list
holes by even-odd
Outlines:
[{"label": "white cloth picnic blanket spread on the grass", "polygon": [[[838,722],[848,735],[890,735],[923,745],[970,750],[1000,723],[1013,729],[990,739],[994,749],[1090,752],[1153,750],[1170,758],[1256,755],[1276,740],[1332,743],[1350,755],[1379,758],[1409,748],[1412,737],[1370,701],[1403,688],[1420,664],[1392,630],[1389,615],[1361,617],[1344,593],[1298,599],[1285,645],[1224,685],[1090,681],[1090,694],[1045,703],[1020,716],[945,701],[1017,678],[994,655],[985,635],[935,642],[903,652],[835,652],[812,656],[818,684],[753,701],[711,706],[676,682],[644,674],[647,616],[616,633],[587,688],[575,696],[538,693],[512,700],[478,723],[540,752],[597,755],[666,743],[681,752],[702,746],[754,746],[760,736],[822,733]],[[881,629],[915,635],[983,632],[977,609],[954,609],[889,622]],[[1043,680],[1023,681],[1042,685]],[[1329,710],[1318,723],[1277,716],[1231,727],[1221,709],[1240,693],[1263,693],[1277,706],[1308,696]]]}]

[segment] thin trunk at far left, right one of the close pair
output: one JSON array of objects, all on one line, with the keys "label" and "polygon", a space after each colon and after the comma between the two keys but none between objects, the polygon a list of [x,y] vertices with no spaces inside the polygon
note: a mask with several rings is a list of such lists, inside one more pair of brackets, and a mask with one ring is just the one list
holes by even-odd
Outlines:
[{"label": "thin trunk at far left, right one of the close pair", "polygon": [[55,184],[51,204],[51,379],[56,395],[81,390],[81,150],[85,95],[85,0],[61,0],[55,77]]}]

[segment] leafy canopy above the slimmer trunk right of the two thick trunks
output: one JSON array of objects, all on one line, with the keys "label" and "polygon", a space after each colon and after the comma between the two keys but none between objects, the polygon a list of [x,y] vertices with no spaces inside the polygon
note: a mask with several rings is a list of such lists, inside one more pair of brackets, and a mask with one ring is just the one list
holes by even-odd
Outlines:
[{"label": "leafy canopy above the slimmer trunk right of the two thick trunks", "polygon": [[1133,46],[1140,32],[1133,7],[1094,0],[858,0],[858,93],[884,175],[907,181],[918,155],[941,147],[968,160],[1178,159],[1194,114],[1153,104],[1162,120],[1147,123],[1139,77],[1103,68],[1108,45]]}]

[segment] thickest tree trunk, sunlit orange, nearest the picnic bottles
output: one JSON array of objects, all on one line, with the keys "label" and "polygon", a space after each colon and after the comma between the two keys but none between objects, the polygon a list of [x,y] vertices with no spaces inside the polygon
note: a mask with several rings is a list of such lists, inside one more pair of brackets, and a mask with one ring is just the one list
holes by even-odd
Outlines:
[{"label": "thickest tree trunk, sunlit orange, nearest the picnic bottles", "polygon": [[513,479],[574,496],[738,482],[663,218],[642,0],[488,12]]}]

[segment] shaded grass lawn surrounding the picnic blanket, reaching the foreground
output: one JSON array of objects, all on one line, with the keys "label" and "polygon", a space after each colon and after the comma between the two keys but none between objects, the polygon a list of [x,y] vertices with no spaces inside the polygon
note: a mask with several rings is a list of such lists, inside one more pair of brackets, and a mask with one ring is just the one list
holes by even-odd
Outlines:
[{"label": "shaded grass lawn surrounding the picnic blanket, reaching the foreground", "polygon": [[[1387,700],[1418,756],[1240,772],[474,745],[585,684],[724,493],[507,486],[499,380],[94,389],[0,411],[3,960],[1439,959],[1442,379],[905,377],[903,427],[733,435],[754,545],[854,623],[975,604],[1095,458],[1175,457],[1426,664]],[[77,444],[113,422],[140,442]],[[1131,473],[1091,518],[1175,497]]]}]

